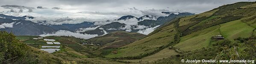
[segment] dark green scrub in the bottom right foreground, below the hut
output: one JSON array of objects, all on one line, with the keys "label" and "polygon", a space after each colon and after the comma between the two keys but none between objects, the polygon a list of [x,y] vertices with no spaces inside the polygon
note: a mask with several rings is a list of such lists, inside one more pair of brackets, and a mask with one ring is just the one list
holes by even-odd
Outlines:
[{"label": "dark green scrub in the bottom right foreground, below the hut", "polygon": [[[214,59],[214,60],[255,60],[256,59],[256,37],[237,38],[235,42],[227,39],[212,43],[211,47],[198,49],[191,52],[181,53],[158,61],[154,64],[182,63],[182,59]],[[236,54],[238,53],[238,54]],[[249,63],[250,64],[250,63]]]}]

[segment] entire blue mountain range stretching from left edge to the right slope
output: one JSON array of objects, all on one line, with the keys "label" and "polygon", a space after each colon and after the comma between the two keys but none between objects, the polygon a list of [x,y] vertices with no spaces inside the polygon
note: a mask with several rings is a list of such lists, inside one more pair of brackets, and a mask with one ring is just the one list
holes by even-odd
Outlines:
[{"label": "entire blue mountain range stretching from left edge to the right slope", "polygon": [[[26,19],[34,19],[36,17],[29,17],[29,16],[23,16],[23,17],[14,17],[14,16],[8,16],[4,14],[0,14],[0,24],[3,23],[13,23],[12,28],[5,28],[4,31],[12,31],[15,35],[41,35],[45,33],[54,33],[59,30],[66,30],[71,32],[76,32],[80,28],[94,28],[97,26],[100,26],[96,28],[95,30],[91,31],[85,31],[82,33],[86,34],[97,34],[97,35],[103,35],[106,33],[111,33],[114,31],[126,31],[125,28],[126,24],[119,23],[115,21],[119,20],[129,20],[129,19],[137,19],[138,25],[144,25],[147,26],[147,28],[155,27],[157,25],[162,25],[168,20],[173,19],[174,17],[182,17],[182,16],[188,16],[193,15],[191,13],[185,12],[185,13],[179,13],[179,14],[170,14],[168,17],[159,17],[156,19],[155,16],[152,15],[144,15],[142,17],[134,17],[131,15],[123,16],[118,19],[115,19],[114,21],[106,21],[106,22],[112,22],[106,25],[94,25],[94,22],[82,22],[78,24],[62,24],[62,25],[49,25],[45,24],[46,21],[37,21],[32,22]],[[145,19],[147,18],[147,19]],[[156,20],[152,20],[156,19]],[[132,28],[137,28],[136,25],[131,25]],[[122,29],[123,28],[123,29]],[[145,28],[144,28],[145,29]],[[3,29],[1,29],[3,31]],[[142,29],[141,29],[142,30]],[[27,32],[28,31],[28,32]],[[129,32],[137,32],[139,29],[131,29]]]}]

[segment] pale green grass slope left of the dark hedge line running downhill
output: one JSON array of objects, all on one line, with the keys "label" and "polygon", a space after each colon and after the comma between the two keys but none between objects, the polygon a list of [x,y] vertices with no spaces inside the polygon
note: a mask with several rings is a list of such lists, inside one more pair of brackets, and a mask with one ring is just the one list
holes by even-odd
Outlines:
[{"label": "pale green grass slope left of the dark hedge line running downhill", "polygon": [[[168,27],[174,27],[174,25],[169,25]],[[151,53],[157,50],[163,45],[168,45],[174,41],[174,35],[177,33],[175,28],[170,28],[168,30],[161,29],[162,32],[154,33],[151,36],[145,37],[139,41],[133,42],[129,45],[121,47],[118,49],[117,54],[109,54],[105,57],[107,58],[121,58],[121,57],[134,57],[143,56],[146,53]],[[168,34],[168,35],[167,35]]]}]

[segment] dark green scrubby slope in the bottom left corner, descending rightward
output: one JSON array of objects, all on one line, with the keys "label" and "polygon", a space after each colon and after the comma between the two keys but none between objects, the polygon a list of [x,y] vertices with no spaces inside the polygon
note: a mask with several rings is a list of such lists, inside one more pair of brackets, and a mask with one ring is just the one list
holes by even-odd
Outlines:
[{"label": "dark green scrubby slope in the bottom left corner, descending rightward", "polygon": [[15,39],[13,33],[0,31],[0,64],[53,64],[59,58],[29,47]]}]

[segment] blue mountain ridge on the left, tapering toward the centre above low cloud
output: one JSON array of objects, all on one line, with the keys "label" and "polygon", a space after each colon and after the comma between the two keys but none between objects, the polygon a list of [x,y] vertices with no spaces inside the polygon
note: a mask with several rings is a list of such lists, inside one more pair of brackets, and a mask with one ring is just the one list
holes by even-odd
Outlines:
[{"label": "blue mountain ridge on the left, tapering toward the centre above low cloud", "polygon": [[35,23],[26,18],[34,19],[35,17],[23,16],[14,17],[4,14],[0,14],[0,24],[12,23],[13,28],[0,29],[0,31],[12,31],[15,35],[33,35],[38,36],[44,33],[54,33],[59,30],[67,30],[74,32],[79,28],[95,27],[92,22],[82,22],[79,24],[62,24],[62,25],[43,25],[40,23]]}]

